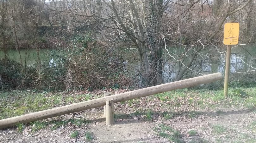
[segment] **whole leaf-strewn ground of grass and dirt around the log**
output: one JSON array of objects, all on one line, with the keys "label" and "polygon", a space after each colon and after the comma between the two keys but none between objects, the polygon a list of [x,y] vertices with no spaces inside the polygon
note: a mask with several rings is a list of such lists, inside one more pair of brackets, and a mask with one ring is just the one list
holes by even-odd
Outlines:
[{"label": "whole leaf-strewn ground of grass and dirt around the log", "polygon": [[[1,93],[0,117],[13,116],[117,94],[95,91]],[[246,94],[244,94],[246,93]],[[115,104],[115,124],[105,125],[103,107],[0,130],[3,142],[255,142],[256,88],[182,89]],[[103,130],[109,130],[107,133]],[[107,138],[107,137],[108,138]]]}]

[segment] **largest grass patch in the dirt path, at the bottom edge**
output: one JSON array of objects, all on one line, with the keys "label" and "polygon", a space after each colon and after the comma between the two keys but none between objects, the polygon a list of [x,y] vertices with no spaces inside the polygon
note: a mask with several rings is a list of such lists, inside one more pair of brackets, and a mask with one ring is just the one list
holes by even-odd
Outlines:
[{"label": "largest grass patch in the dirt path, at the bottom edge", "polygon": [[181,140],[182,135],[178,130],[173,129],[170,126],[165,124],[159,124],[160,128],[155,127],[154,131],[157,133],[158,136],[163,138],[168,138],[170,141],[175,143],[183,143],[184,141]]}]

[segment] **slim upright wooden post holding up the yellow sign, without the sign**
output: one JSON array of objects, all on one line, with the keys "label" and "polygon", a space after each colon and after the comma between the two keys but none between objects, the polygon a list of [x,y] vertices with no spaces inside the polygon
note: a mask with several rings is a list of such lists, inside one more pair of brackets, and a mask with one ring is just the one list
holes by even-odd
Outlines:
[{"label": "slim upright wooden post holding up the yellow sign, without the sign", "polygon": [[[233,23],[233,20],[229,20],[229,23]],[[224,77],[224,96],[228,96],[228,75],[230,69],[230,57],[231,57],[231,48],[232,45],[227,46],[227,53],[226,53],[226,67],[225,67],[225,77]]]}]

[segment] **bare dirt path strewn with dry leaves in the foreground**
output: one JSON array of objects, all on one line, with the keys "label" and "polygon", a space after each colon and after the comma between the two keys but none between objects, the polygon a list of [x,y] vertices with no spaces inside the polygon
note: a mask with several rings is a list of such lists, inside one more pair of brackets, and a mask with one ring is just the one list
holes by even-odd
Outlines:
[{"label": "bare dirt path strewn with dry leaves in the foreground", "polygon": [[[161,115],[154,114],[157,117],[153,122],[144,119],[134,120],[130,114],[123,114],[122,119],[115,121],[114,125],[105,125],[102,118],[102,111],[93,113],[79,113],[79,116],[85,115],[90,118],[91,123],[76,127],[70,123],[61,126],[56,130],[50,128],[42,129],[36,133],[31,133],[31,126],[26,126],[22,134],[16,129],[9,128],[0,130],[0,141],[3,143],[27,142],[27,143],[66,143],[66,142],[92,142],[92,143],[165,143],[172,142],[167,138],[159,137],[154,131],[159,124],[165,124],[178,130],[182,135],[184,142],[250,142],[248,139],[255,139],[256,134],[248,129],[248,125],[255,120],[256,113],[251,110],[226,111],[221,113],[209,112],[199,115],[197,118],[188,118],[186,115],[165,120]],[[62,119],[72,118],[77,114],[62,116]],[[136,116],[137,117],[137,116]],[[213,126],[222,125],[225,132],[215,133]],[[50,126],[50,125],[49,125]],[[196,130],[197,134],[190,136],[189,130]],[[71,138],[72,131],[78,131],[76,138]],[[87,141],[84,133],[91,131],[93,140]],[[249,135],[240,137],[241,134]],[[217,140],[217,141],[216,141]],[[253,140],[252,140],[253,141]]]}]

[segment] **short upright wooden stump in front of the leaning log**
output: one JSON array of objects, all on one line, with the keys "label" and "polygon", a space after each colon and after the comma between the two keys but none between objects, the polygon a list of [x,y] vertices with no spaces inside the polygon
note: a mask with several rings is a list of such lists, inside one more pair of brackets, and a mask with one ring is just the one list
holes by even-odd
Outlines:
[{"label": "short upright wooden stump in front of the leaning log", "polygon": [[106,124],[114,124],[114,99],[106,99]]}]

